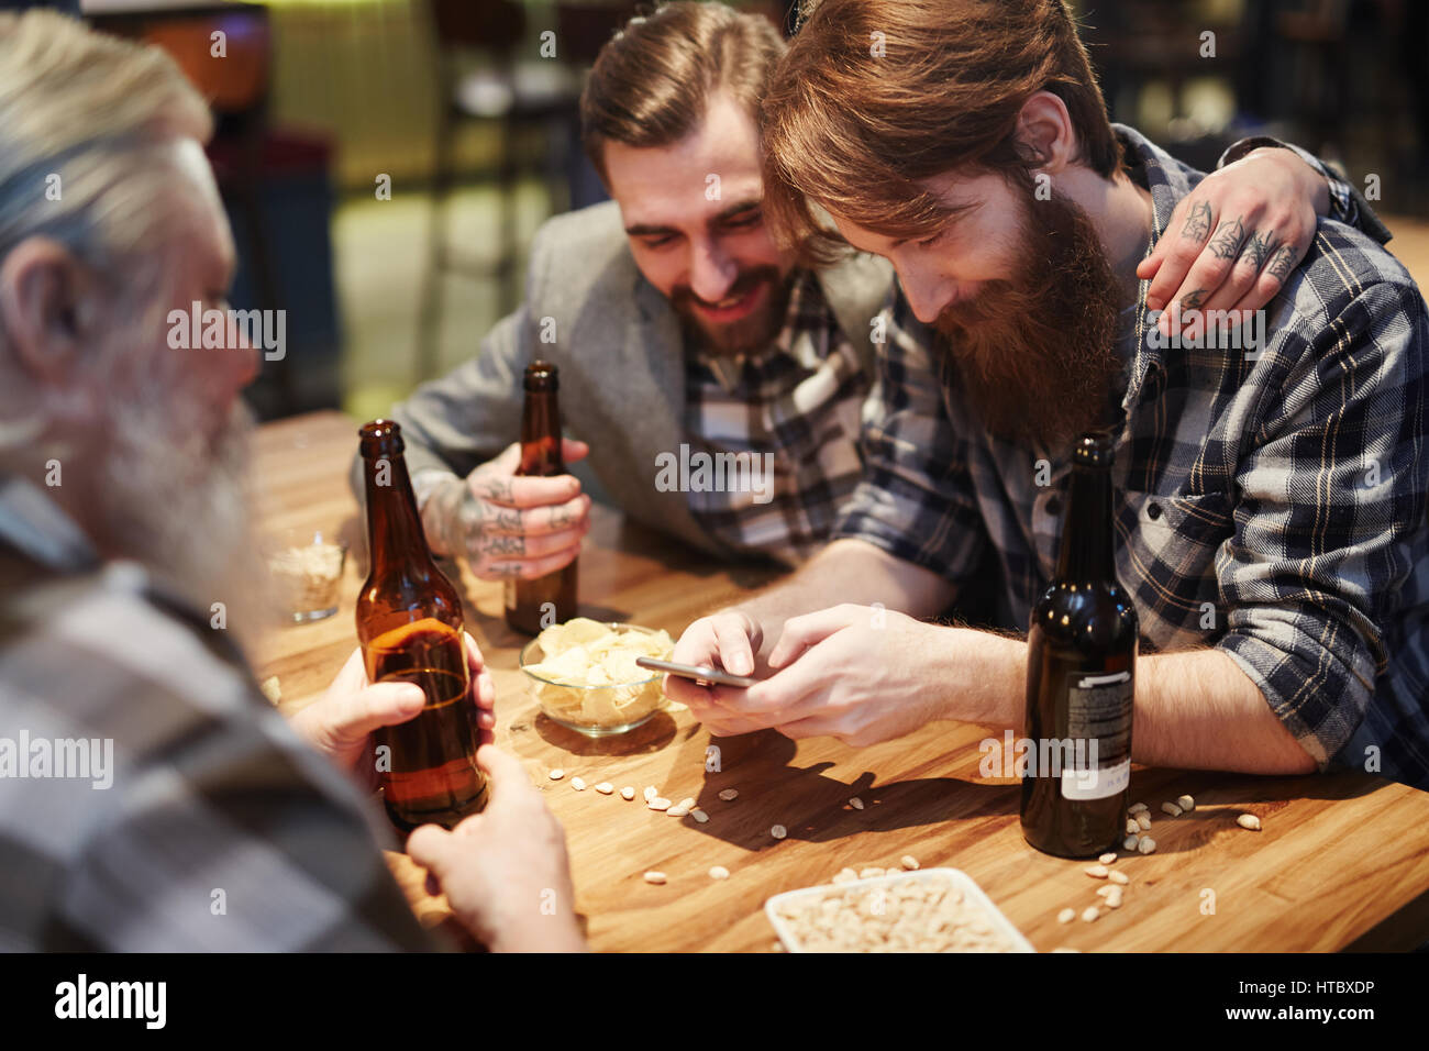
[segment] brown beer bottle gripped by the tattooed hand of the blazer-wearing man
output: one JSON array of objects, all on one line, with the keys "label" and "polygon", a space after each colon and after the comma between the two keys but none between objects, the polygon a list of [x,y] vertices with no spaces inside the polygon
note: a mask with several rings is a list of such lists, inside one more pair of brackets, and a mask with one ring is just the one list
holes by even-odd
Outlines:
[{"label": "brown beer bottle gripped by the tattooed hand of the blazer-wearing man", "polygon": [[[560,455],[560,405],[556,390],[560,376],[554,365],[526,366],[526,409],[522,413],[522,466],[517,475],[550,478],[566,473]],[[519,632],[537,635],[553,623],[576,615],[576,562],[534,581],[506,581],[506,623]]]}]

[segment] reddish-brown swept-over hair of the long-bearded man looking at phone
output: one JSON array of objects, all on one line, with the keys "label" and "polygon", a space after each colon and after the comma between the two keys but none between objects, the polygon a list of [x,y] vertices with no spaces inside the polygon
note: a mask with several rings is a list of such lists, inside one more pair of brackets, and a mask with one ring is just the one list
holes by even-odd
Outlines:
[{"label": "reddish-brown swept-over hair of the long-bearded man looking at phone", "polygon": [[765,94],[765,212],[805,262],[846,250],[816,202],[893,237],[952,217],[917,182],[997,172],[1030,183],[1017,114],[1060,97],[1079,160],[1122,164],[1086,49],[1065,0],[820,0]]}]

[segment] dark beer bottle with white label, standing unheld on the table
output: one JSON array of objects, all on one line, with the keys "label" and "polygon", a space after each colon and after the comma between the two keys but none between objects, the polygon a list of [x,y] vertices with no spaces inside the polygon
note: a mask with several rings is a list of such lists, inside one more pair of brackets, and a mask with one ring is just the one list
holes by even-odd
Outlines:
[{"label": "dark beer bottle with white label, standing unheld on the table", "polygon": [[1073,448],[1057,573],[1027,633],[1022,835],[1063,858],[1115,849],[1130,791],[1137,621],[1116,579],[1112,448],[1102,432]]}]

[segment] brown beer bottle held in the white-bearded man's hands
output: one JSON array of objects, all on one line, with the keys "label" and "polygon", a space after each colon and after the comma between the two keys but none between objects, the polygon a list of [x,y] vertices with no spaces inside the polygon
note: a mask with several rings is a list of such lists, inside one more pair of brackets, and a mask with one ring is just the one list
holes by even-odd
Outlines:
[{"label": "brown beer bottle held in the white-bearded man's hands", "polygon": [[[462,632],[462,599],[427,549],[402,428],[373,420],[357,432],[367,479],[372,572],[357,595],[357,639],[369,682],[414,682],[426,708],[376,732],[377,771],[393,824],[456,825],[486,805],[476,765],[480,734]],[[383,761],[386,758],[386,762]]]}]

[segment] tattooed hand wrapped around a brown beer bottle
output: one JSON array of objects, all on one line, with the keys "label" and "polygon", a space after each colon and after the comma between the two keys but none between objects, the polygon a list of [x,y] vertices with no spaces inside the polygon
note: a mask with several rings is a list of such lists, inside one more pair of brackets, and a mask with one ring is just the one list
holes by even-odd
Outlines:
[{"label": "tattooed hand wrapped around a brown beer bottle", "polygon": [[[562,439],[562,456],[582,459],[584,442]],[[439,555],[464,555],[483,581],[534,579],[569,565],[590,531],[590,498],[570,475],[517,478],[513,443],[464,479],[450,478],[426,496],[422,528]]]}]

